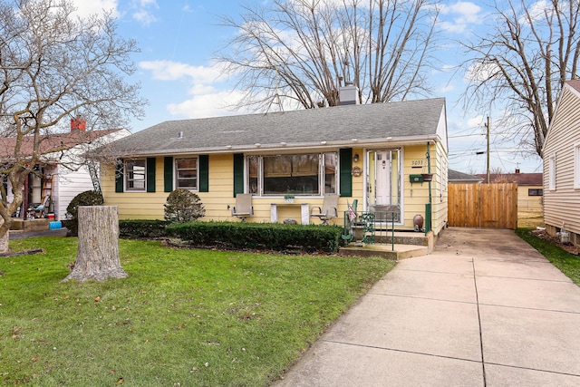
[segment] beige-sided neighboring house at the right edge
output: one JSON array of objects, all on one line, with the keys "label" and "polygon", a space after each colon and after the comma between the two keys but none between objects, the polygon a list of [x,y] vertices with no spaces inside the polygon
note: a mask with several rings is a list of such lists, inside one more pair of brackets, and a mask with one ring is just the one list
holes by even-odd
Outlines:
[{"label": "beige-sided neighboring house at the right edge", "polygon": [[567,81],[556,102],[544,148],[544,221],[557,235],[565,228],[580,245],[580,80]]}]

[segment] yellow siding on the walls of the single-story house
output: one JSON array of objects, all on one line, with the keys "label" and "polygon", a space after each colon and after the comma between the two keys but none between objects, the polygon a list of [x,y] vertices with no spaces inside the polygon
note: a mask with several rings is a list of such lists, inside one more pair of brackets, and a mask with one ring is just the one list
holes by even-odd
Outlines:
[{"label": "yellow siding on the walls of the single-story house", "polygon": [[[427,142],[424,145],[405,147],[401,151],[403,160],[403,204],[404,204],[404,225],[401,228],[412,229],[412,218],[415,214],[421,214],[425,217],[425,203],[429,202],[429,183],[413,183],[411,185],[409,175],[421,173],[421,169],[412,169],[411,160],[425,160],[427,151]],[[339,199],[338,218],[333,219],[330,223],[342,226],[343,213],[347,209],[347,203],[353,203],[358,199],[358,209],[362,210],[364,203],[364,169],[362,155],[365,154],[363,149],[353,149],[353,155],[359,154],[359,161],[353,161],[353,167],[362,169],[361,176],[353,176],[353,196],[349,198],[342,197]],[[440,190],[440,171],[447,170],[446,164],[443,165],[441,160],[446,159],[443,155],[443,148],[440,144],[431,142],[431,172],[435,175],[431,183],[432,200],[433,200],[433,230],[439,232],[447,220],[447,192]],[[119,207],[119,218],[143,218],[143,219],[162,219],[164,218],[164,207],[169,192],[164,192],[163,166],[164,158],[158,157],[156,160],[156,192],[115,192],[114,171],[110,167],[102,169],[102,191],[105,198],[105,204],[116,205]],[[446,161],[445,161],[446,162]],[[236,204],[236,198],[233,196],[234,191],[234,158],[232,154],[209,155],[209,192],[196,192],[206,208],[207,216],[201,220],[234,220],[237,218],[231,216],[231,208]],[[427,172],[425,164],[423,173]],[[446,181],[446,177],[445,177]],[[337,186],[338,189],[338,186]],[[281,197],[255,197],[252,199],[254,207],[254,216],[247,218],[251,222],[270,222],[271,206],[275,203],[278,206],[278,222],[286,218],[295,219],[301,223],[301,207],[299,204],[308,203],[309,212],[314,207],[322,207],[324,199],[322,197],[296,197],[295,203],[291,206],[284,204],[284,198]],[[229,206],[229,208],[228,208]],[[444,213],[444,217],[441,215]],[[319,220],[310,218],[311,223],[320,223]]]}]

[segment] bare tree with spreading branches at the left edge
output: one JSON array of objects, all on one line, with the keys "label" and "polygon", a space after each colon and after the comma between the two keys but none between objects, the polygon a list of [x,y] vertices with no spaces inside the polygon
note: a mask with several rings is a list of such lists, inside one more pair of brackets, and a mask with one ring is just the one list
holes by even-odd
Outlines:
[{"label": "bare tree with spreading branches at the left edge", "polygon": [[69,0],[0,0],[0,140],[12,148],[0,160],[0,252],[7,250],[12,214],[23,202],[24,179],[52,143],[62,121],[82,114],[93,127],[120,128],[140,117],[144,101],[134,72],[133,40],[121,38],[111,15],[74,17]]}]

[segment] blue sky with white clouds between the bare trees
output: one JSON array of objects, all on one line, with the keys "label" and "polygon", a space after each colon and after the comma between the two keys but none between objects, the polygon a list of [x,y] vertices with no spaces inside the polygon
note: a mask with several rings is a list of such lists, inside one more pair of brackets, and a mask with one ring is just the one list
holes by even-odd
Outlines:
[{"label": "blue sky with white clouds between the bare trees", "polygon": [[[267,1],[267,0],[264,0]],[[537,2],[542,5],[543,1]],[[119,33],[137,40],[140,53],[136,80],[150,105],[143,121],[131,122],[140,131],[161,121],[239,114],[227,109],[241,96],[234,80],[227,79],[212,58],[236,31],[218,25],[219,15],[236,16],[246,1],[234,0],[74,0],[81,15],[112,10]],[[485,173],[484,122],[491,116],[490,166],[512,172],[541,172],[541,160],[514,154],[508,129],[494,121],[492,111],[463,111],[460,94],[466,82],[454,71],[464,58],[456,41],[484,31],[488,10],[480,2],[440,1],[442,6],[440,65],[431,73],[433,96],[447,99],[449,168]]]}]

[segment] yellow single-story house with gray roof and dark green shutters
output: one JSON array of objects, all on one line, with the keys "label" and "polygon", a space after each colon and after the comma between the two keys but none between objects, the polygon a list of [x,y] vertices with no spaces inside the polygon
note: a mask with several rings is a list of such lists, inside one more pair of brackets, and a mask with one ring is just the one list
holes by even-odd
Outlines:
[{"label": "yellow single-story house with gray roof and dark green shutters", "polygon": [[417,214],[435,235],[447,222],[442,98],[165,121],[112,146],[120,162],[102,169],[102,193],[121,219],[164,218],[169,192],[182,188],[201,199],[201,220],[238,220],[231,208],[249,193],[248,222],[320,223],[309,214],[333,193],[333,224],[354,199],[359,211],[395,211],[400,230]]}]

